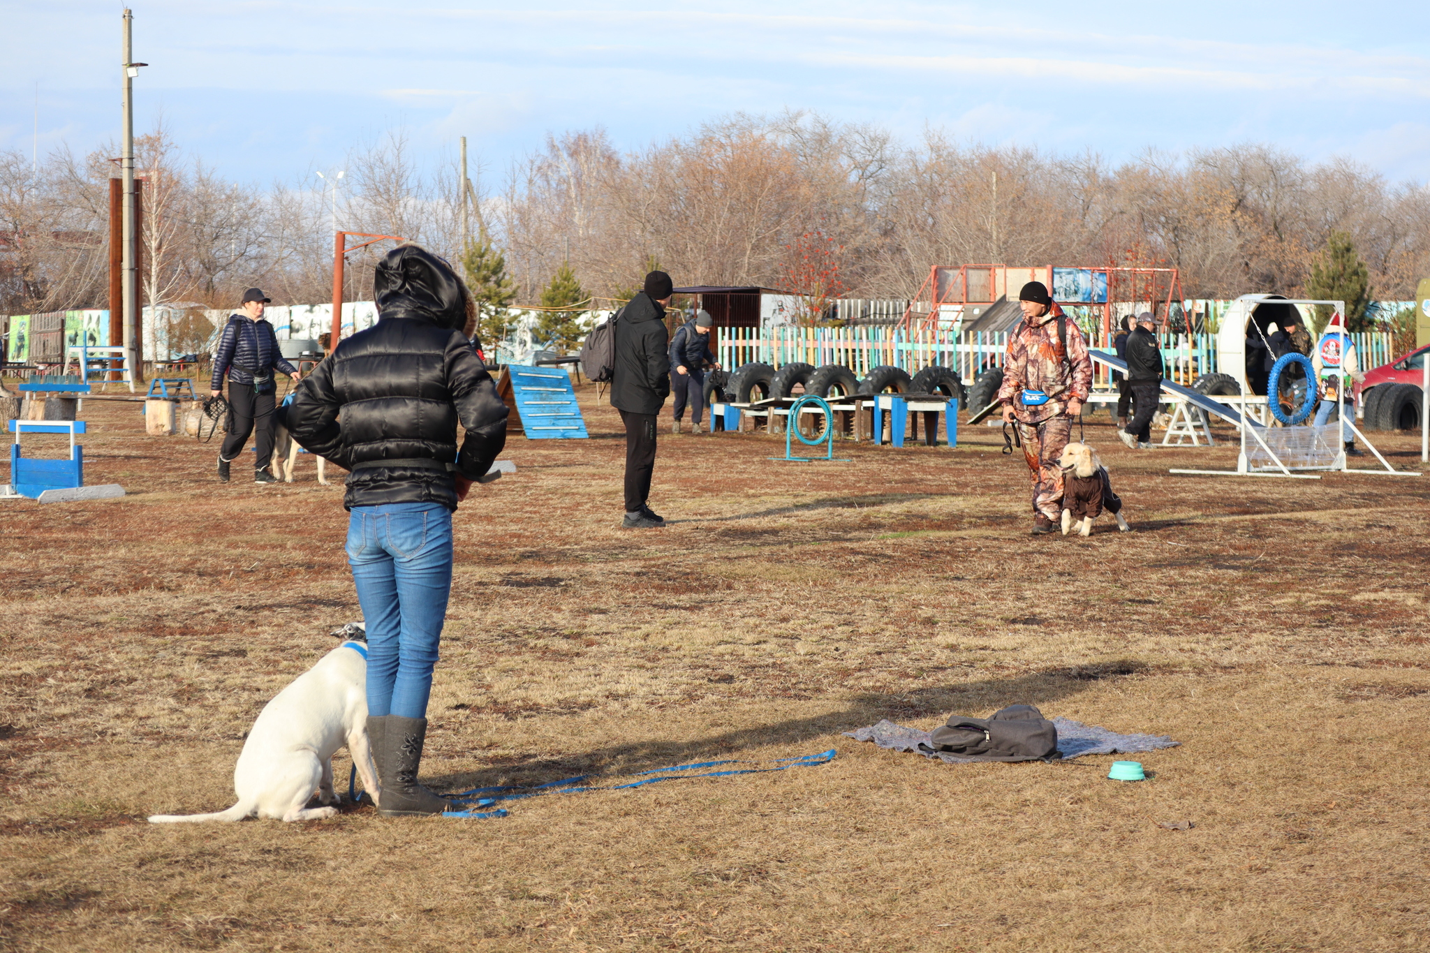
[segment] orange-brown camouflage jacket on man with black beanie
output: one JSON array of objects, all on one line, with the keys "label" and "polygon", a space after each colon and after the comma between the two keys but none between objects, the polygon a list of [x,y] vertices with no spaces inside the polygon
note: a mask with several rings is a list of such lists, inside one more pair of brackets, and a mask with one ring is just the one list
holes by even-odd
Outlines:
[{"label": "orange-brown camouflage jacket on man with black beanie", "polygon": [[[1022,319],[1008,336],[998,403],[1012,404],[1022,423],[1057,417],[1067,410],[1068,400],[1084,401],[1093,389],[1087,339],[1071,317],[1067,319],[1067,360],[1062,360],[1062,343],[1058,340],[1061,314],[1062,309],[1054,304],[1042,317]],[[1050,400],[1041,407],[1024,407],[1018,399],[1024,390],[1041,390]]]}]

